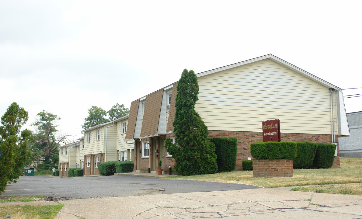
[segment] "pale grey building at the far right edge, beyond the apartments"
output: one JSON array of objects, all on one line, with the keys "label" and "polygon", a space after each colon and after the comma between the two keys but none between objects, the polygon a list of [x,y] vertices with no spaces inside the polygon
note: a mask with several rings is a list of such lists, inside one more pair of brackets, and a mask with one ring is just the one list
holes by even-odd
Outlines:
[{"label": "pale grey building at the far right edge, beyond the apartments", "polygon": [[347,113],[350,136],[339,141],[341,157],[362,157],[362,111]]}]

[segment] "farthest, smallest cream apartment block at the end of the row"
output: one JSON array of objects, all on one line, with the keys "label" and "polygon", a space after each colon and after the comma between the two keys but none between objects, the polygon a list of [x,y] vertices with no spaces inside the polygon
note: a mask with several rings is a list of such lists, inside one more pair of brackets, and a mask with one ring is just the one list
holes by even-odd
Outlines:
[{"label": "farthest, smallest cream apartment block at the end of the row", "polygon": [[77,167],[79,142],[59,146],[59,176],[68,177],[69,168]]}]

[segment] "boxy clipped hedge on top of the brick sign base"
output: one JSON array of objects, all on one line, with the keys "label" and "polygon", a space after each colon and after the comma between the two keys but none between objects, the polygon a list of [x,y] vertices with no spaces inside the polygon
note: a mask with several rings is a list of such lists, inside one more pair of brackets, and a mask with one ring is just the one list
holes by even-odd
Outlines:
[{"label": "boxy clipped hedge on top of the brick sign base", "polygon": [[258,142],[250,144],[250,153],[255,159],[294,159],[295,142]]}]

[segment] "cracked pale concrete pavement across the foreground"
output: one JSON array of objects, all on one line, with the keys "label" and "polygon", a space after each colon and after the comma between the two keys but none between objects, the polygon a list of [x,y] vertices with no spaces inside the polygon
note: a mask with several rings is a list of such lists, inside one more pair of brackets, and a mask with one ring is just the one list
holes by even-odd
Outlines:
[{"label": "cracked pale concrete pavement across the foreground", "polygon": [[244,189],[58,201],[56,218],[362,218],[362,196],[291,188]]}]

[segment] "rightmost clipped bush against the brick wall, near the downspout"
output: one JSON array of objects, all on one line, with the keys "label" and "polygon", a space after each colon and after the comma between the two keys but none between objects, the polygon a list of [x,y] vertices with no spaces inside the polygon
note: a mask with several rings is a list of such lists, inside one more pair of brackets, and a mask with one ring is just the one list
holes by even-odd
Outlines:
[{"label": "rightmost clipped bush against the brick wall, near the downspout", "polygon": [[313,161],[313,168],[330,168],[334,161],[336,145],[317,143],[318,148]]}]

